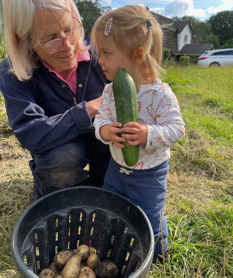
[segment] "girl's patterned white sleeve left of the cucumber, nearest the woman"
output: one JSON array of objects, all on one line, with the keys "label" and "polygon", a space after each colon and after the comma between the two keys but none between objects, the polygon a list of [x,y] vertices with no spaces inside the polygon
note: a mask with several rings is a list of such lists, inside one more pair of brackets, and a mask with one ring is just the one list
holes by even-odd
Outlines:
[{"label": "girl's patterned white sleeve left of the cucumber, nearest the woman", "polygon": [[112,141],[110,140],[104,140],[100,137],[100,128],[106,124],[112,124],[112,113],[110,109],[111,104],[111,97],[112,97],[112,83],[107,84],[104,87],[104,91],[102,94],[102,99],[100,103],[100,108],[98,111],[98,114],[95,115],[94,120],[94,128],[95,128],[95,136],[98,140],[102,141],[104,144],[110,144]]}]

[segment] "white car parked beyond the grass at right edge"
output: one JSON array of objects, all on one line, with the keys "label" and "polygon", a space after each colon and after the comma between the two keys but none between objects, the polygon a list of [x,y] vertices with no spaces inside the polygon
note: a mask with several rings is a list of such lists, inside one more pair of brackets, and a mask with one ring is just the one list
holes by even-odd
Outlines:
[{"label": "white car parked beyond the grass at right edge", "polygon": [[203,67],[220,67],[233,65],[233,48],[205,51],[198,57],[197,65]]}]

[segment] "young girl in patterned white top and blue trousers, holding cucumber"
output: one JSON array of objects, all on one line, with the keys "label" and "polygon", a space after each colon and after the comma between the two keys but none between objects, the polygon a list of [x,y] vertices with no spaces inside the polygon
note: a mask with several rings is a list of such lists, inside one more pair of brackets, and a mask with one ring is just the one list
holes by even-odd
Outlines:
[{"label": "young girl in patterned white top and blue trousers, holding cucumber", "polygon": [[[170,147],[184,135],[176,96],[159,79],[162,43],[161,27],[142,6],[124,6],[102,15],[91,32],[91,46],[95,57],[100,54],[99,64],[108,80],[113,80],[118,67],[125,68],[133,77],[138,96],[138,122],[121,126],[112,83],[104,88],[94,127],[97,139],[109,144],[112,158],[102,188],[128,197],[144,210],[155,234],[154,258],[168,248],[163,212],[168,159]],[[132,134],[121,138],[120,132]],[[126,140],[129,145],[139,145],[139,160],[133,167],[128,167],[122,156]]]}]

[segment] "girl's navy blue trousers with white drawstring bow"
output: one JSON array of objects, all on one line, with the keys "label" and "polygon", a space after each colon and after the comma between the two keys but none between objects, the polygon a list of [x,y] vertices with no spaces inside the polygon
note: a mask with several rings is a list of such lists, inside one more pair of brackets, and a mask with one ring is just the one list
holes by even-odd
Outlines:
[{"label": "girl's navy blue trousers with white drawstring bow", "polygon": [[121,173],[120,168],[121,165],[110,158],[102,188],[120,193],[142,208],[154,231],[156,242],[154,256],[162,255],[160,212],[162,215],[164,253],[168,248],[168,230],[164,217],[168,160],[146,170],[132,170],[125,167],[129,171],[133,171],[129,175]]}]

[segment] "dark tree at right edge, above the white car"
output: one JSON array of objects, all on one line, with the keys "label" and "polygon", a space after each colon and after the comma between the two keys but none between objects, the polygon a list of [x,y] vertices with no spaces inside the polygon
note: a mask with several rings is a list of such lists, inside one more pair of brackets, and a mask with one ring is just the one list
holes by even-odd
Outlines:
[{"label": "dark tree at right edge, above the white car", "polygon": [[221,11],[209,18],[214,35],[219,37],[220,44],[233,38],[233,11]]}]

